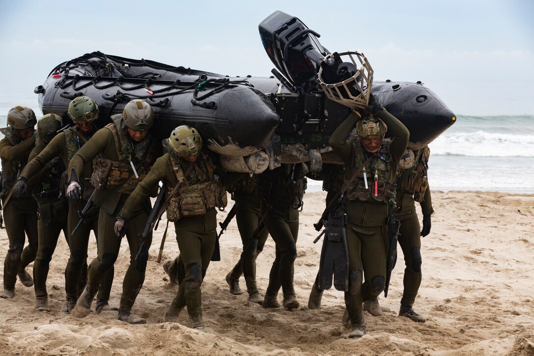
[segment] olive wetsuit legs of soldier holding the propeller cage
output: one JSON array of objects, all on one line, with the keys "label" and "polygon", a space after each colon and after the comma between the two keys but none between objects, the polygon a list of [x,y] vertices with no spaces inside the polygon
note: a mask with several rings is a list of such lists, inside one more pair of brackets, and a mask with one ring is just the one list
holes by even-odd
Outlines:
[{"label": "olive wetsuit legs of soldier holding the propeller cage", "polygon": [[[380,295],[386,283],[386,247],[382,226],[347,225],[349,251],[349,290],[345,305],[352,326],[365,326],[362,303]],[[365,282],[363,279],[365,277]]]}]

